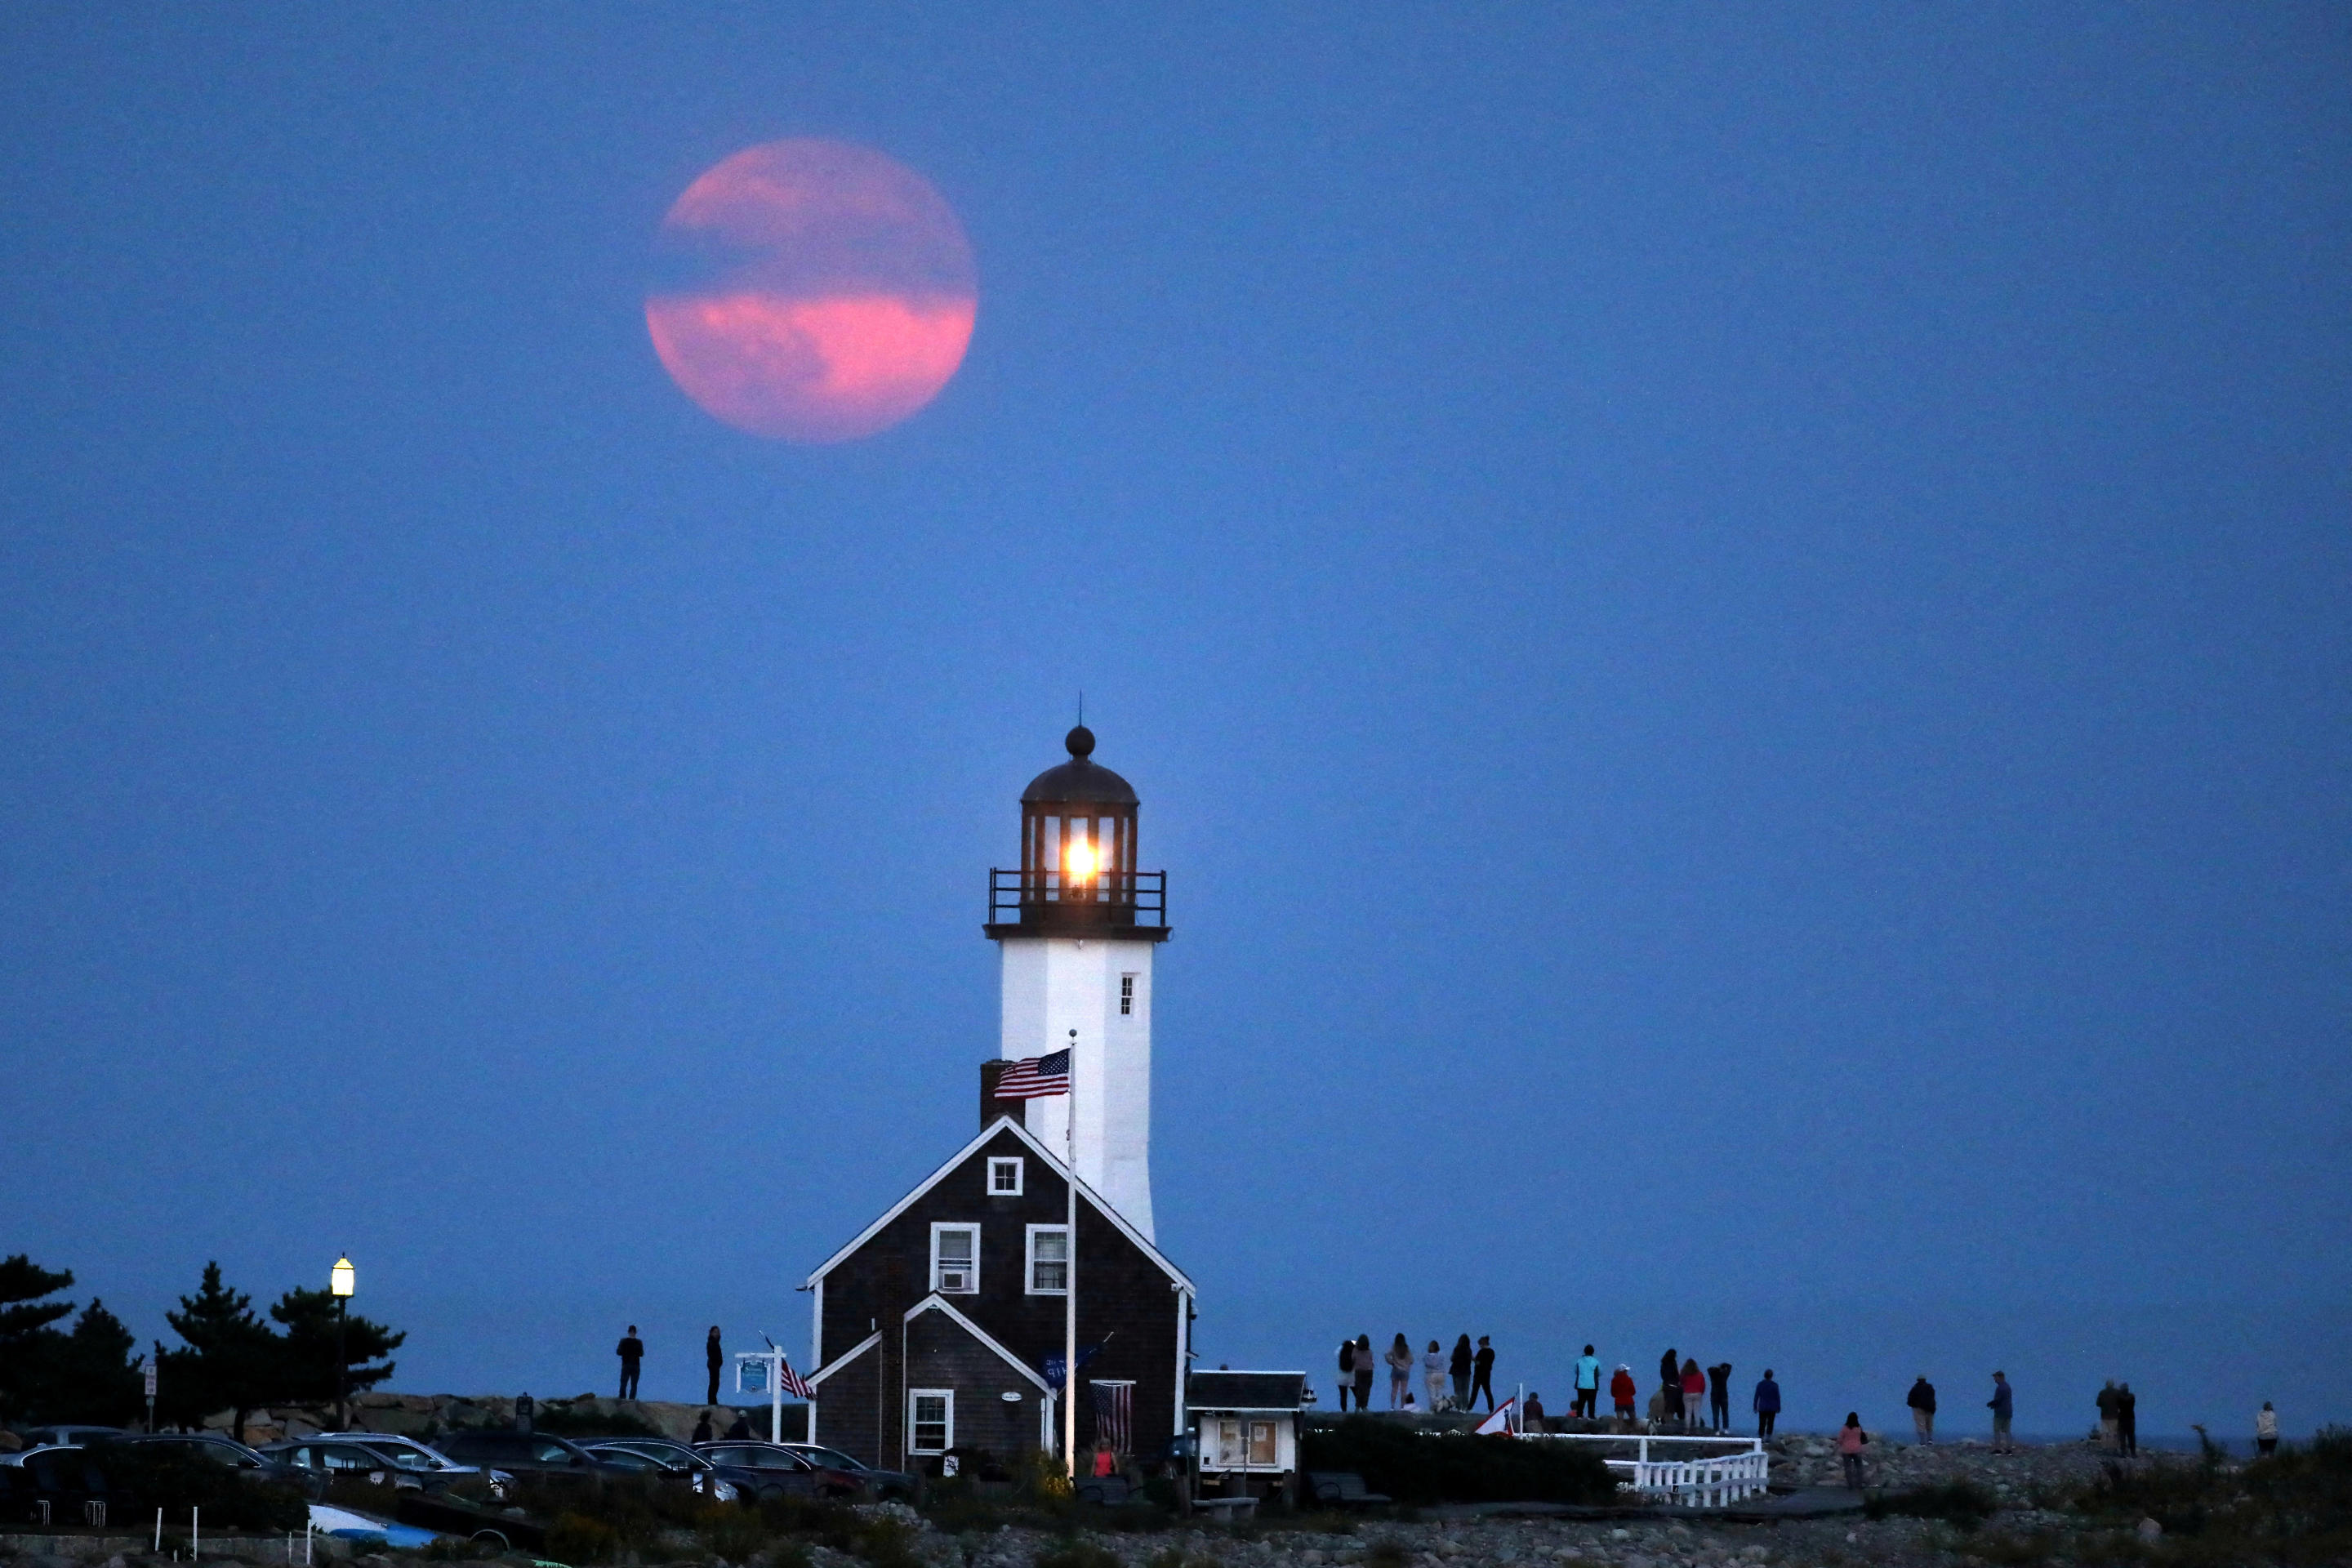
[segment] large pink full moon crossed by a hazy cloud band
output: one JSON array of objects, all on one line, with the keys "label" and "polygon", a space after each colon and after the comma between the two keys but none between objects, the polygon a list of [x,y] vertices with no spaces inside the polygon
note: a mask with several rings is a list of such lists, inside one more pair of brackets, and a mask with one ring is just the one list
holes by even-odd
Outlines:
[{"label": "large pink full moon crossed by a hazy cloud band", "polygon": [[847,141],[767,141],[661,221],[644,327],[715,418],[849,442],[938,397],[978,315],[971,242],[906,165]]}]

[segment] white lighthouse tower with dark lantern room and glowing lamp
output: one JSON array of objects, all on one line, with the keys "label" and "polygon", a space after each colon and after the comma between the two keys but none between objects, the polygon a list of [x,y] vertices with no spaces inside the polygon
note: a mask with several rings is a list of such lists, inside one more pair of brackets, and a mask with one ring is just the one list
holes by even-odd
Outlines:
[{"label": "white lighthouse tower with dark lantern room and glowing lamp", "polygon": [[[1002,1056],[1070,1051],[1075,1095],[1016,1105],[1063,1150],[1077,1105],[1077,1175],[1152,1237],[1152,947],[1169,938],[1167,872],[1136,870],[1136,792],[1094,762],[1084,724],[1070,759],[1021,792],[1021,870],[988,875],[988,936],[1004,959]],[[983,1112],[995,1074],[981,1074]]]}]

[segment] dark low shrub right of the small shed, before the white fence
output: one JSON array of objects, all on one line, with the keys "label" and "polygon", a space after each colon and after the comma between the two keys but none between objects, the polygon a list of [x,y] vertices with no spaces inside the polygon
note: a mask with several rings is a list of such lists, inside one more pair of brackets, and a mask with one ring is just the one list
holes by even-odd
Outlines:
[{"label": "dark low shrub right of the small shed, before the white fence", "polygon": [[1301,1469],[1352,1469],[1399,1505],[1423,1502],[1611,1502],[1616,1476],[1571,1443],[1515,1436],[1430,1436],[1350,1415],[1298,1439]]}]

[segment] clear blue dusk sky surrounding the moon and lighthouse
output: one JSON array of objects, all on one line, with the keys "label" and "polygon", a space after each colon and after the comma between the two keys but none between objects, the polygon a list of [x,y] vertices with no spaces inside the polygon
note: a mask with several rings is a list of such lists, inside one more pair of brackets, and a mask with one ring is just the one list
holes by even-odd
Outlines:
[{"label": "clear blue dusk sky surrounding the moon and lighthouse", "polygon": [[[336,1253],[701,1392],[976,1131],[1143,797],[1209,1366],[2352,1420],[2338,5],[0,19],[0,1253]],[[929,407],[647,336],[720,160],[969,235]]]}]

